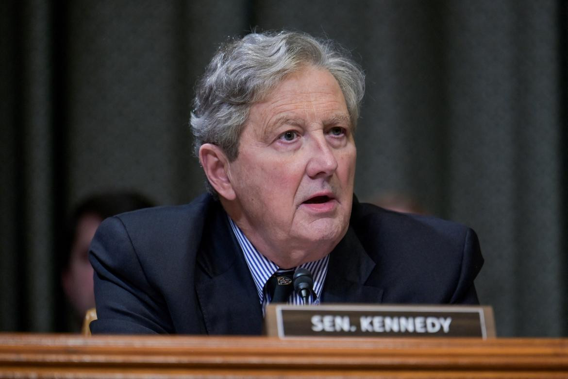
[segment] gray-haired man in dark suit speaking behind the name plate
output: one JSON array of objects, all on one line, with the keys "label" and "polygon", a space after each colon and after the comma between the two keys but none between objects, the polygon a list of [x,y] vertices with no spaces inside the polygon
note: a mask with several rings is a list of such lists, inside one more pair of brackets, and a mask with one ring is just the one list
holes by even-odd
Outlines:
[{"label": "gray-haired man in dark suit speaking behind the name plate", "polygon": [[223,45],[198,83],[191,127],[209,194],[127,213],[91,244],[99,319],[119,333],[260,334],[271,301],[477,303],[483,259],[458,224],[353,196],[364,75],[306,34]]}]

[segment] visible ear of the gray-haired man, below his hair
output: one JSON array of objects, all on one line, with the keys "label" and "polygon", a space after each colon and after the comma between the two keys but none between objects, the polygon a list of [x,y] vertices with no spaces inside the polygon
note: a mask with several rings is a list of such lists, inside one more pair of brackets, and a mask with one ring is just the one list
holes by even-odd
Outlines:
[{"label": "visible ear of the gray-haired man, below his hair", "polygon": [[199,148],[199,163],[217,193],[227,200],[234,200],[235,191],[227,174],[229,160],[223,150],[217,145],[204,143]]}]

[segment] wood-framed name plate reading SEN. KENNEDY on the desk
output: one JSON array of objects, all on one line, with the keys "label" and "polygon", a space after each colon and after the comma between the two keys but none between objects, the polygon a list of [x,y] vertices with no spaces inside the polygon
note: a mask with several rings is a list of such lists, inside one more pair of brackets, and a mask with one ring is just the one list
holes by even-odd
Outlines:
[{"label": "wood-framed name plate reading SEN. KENNEDY on the desk", "polygon": [[266,306],[269,336],[495,338],[490,306],[311,305]]}]

